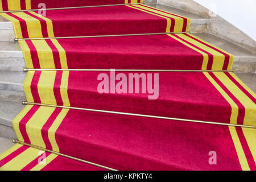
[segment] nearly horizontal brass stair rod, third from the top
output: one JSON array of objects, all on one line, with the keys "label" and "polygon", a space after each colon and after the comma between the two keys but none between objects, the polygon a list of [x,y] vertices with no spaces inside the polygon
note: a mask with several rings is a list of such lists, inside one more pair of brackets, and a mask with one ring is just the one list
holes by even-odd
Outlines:
[{"label": "nearly horizontal brass stair rod, third from the top", "polygon": [[[108,72],[112,69],[29,69],[24,68],[24,72],[28,71],[83,71],[83,72]],[[116,72],[234,72],[231,70],[183,70],[183,69],[114,69]]]}]

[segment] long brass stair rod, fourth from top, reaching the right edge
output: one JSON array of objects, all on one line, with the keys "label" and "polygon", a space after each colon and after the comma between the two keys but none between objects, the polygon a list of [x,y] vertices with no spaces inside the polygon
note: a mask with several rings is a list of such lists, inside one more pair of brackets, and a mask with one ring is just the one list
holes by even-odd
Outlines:
[{"label": "long brass stair rod, fourth from top, reaching the right edge", "polygon": [[162,117],[162,116],[156,116],[156,115],[124,113],[124,112],[109,111],[109,110],[86,109],[86,108],[81,108],[81,107],[58,106],[58,105],[50,105],[50,104],[38,104],[38,103],[26,102],[26,101],[22,102],[22,104],[23,105],[38,105],[38,106],[47,106],[47,107],[57,107],[57,108],[63,108],[63,109],[85,110],[85,111],[92,111],[92,112],[96,112],[96,113],[130,115],[130,116],[144,117],[144,118],[167,119],[167,120],[175,120],[175,121],[187,121],[187,122],[204,123],[204,124],[211,124],[211,125],[248,127],[248,128],[256,129],[256,126],[237,125],[237,124],[232,124],[232,123],[221,123],[221,122],[212,122],[212,121],[199,121],[199,120],[194,120],[194,119],[181,119],[181,118]]}]

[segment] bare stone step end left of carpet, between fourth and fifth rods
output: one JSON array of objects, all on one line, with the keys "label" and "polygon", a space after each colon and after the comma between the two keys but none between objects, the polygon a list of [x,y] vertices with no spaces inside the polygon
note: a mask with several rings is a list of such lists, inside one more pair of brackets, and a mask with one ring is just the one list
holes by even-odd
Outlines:
[{"label": "bare stone step end left of carpet, between fourth and fifth rods", "polygon": [[21,103],[0,100],[0,137],[16,138],[12,121],[23,108]]}]

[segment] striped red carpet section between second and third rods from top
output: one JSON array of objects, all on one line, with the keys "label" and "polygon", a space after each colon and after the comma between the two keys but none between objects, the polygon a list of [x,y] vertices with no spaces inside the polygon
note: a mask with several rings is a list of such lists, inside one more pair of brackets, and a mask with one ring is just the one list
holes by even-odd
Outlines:
[{"label": "striped red carpet section between second and third rods from top", "polygon": [[[39,47],[43,49],[36,59],[27,59],[27,68],[232,69],[233,55],[193,38],[190,34],[144,35],[59,39],[57,42],[27,40],[21,45],[23,51],[32,56],[37,55]],[[59,58],[59,53],[65,54],[65,58]],[[61,63],[64,59],[66,64]]]}]

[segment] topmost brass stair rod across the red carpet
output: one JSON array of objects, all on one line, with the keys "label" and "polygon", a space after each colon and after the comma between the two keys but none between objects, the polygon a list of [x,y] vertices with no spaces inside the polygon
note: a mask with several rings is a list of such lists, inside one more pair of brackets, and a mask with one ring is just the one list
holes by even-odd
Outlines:
[{"label": "topmost brass stair rod across the red carpet", "polygon": [[47,8],[47,9],[31,9],[31,10],[9,10],[9,11],[0,11],[0,13],[17,13],[17,12],[27,12],[27,11],[39,11],[39,10],[68,10],[68,9],[82,9],[89,7],[108,7],[108,6],[125,6],[125,5],[143,5],[145,3],[127,3],[127,4],[116,4],[116,5],[97,5],[97,6],[76,6],[76,7],[56,7],[56,8]]}]

